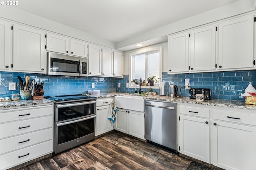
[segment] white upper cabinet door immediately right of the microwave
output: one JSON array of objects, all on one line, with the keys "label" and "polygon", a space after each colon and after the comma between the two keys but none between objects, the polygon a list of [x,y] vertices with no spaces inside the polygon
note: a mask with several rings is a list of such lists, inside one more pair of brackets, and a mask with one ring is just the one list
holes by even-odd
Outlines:
[{"label": "white upper cabinet door immediately right of the microwave", "polygon": [[88,76],[101,76],[102,53],[101,47],[89,45]]}]

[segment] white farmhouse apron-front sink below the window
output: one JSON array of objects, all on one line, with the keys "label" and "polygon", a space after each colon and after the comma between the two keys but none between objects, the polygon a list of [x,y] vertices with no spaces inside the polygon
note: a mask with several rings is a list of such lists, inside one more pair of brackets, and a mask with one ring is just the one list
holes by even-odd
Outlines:
[{"label": "white farmhouse apron-front sink below the window", "polygon": [[142,96],[115,96],[116,107],[144,112],[145,102]]}]

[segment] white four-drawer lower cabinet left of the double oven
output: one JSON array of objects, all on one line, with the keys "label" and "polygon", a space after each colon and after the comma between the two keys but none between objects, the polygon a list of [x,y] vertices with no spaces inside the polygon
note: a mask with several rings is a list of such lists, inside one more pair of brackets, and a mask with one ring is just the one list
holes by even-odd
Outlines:
[{"label": "white four-drawer lower cabinet left of the double oven", "polygon": [[53,152],[53,105],[0,111],[0,170]]}]

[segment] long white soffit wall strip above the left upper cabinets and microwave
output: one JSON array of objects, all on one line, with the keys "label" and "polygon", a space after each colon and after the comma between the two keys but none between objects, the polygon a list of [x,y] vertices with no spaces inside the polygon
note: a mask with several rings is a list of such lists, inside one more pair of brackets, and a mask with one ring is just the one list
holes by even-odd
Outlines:
[{"label": "long white soffit wall strip above the left upper cabinets and microwave", "polygon": [[0,17],[115,49],[113,42],[10,6],[0,6]]}]

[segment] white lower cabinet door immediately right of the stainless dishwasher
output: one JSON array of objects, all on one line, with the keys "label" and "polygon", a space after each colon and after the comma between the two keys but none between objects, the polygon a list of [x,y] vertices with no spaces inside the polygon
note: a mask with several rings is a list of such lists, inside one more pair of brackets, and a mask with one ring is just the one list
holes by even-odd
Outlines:
[{"label": "white lower cabinet door immediately right of the stainless dishwasher", "polygon": [[180,115],[180,153],[210,163],[210,121]]}]

